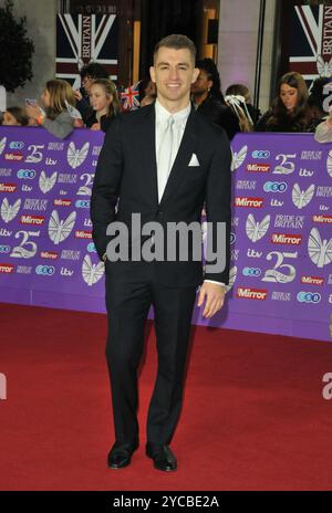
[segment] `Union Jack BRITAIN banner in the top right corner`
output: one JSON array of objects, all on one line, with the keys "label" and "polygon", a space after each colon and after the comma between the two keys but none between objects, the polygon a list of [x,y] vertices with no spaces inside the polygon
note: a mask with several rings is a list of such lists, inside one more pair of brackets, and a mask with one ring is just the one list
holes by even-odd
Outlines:
[{"label": "Union Jack BRITAIN banner in the top right corner", "polygon": [[332,6],[294,6],[289,67],[305,81],[332,76]]}]

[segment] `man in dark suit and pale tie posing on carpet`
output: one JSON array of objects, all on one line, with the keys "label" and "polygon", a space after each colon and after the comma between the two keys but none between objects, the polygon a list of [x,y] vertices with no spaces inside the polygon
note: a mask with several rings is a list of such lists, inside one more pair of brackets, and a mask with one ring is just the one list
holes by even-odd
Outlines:
[{"label": "man in dark suit and pale tie posing on carpet", "polygon": [[[148,409],[146,454],[156,469],[176,470],[169,443],[180,413],[197,287],[201,285],[198,305],[205,304],[203,315],[211,317],[224,304],[228,283],[231,151],[224,130],[200,118],[190,105],[190,86],[198,75],[195,53],[194,43],[184,35],[169,35],[156,45],[151,76],[157,100],[115,118],[93,185],[93,240],[105,260],[106,274],[106,358],[115,427],[115,443],[107,459],[112,469],[129,464],[138,447],[137,366],[144,324],[153,305],[158,370]],[[185,261],[178,245],[175,258],[136,258],[137,248],[143,253],[144,248],[153,252],[163,247],[159,231],[147,233],[146,223],[157,223],[163,233],[172,223],[198,223],[204,205],[214,251],[218,229],[226,227],[222,248],[219,244],[217,254],[207,260],[204,276],[203,263],[189,248],[190,237]],[[133,228],[134,216],[139,218],[142,238]],[[166,235],[162,242],[172,247]],[[117,261],[115,248],[120,249]]]}]

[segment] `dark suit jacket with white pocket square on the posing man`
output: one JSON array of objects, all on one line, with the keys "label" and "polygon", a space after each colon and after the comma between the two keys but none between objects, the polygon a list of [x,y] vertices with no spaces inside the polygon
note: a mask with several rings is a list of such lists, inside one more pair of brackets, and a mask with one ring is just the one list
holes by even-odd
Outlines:
[{"label": "dark suit jacket with white pocket square on the posing man", "polygon": [[[196,154],[199,166],[188,166]],[[93,240],[100,258],[106,252],[111,237],[106,229],[113,221],[131,229],[132,213],[142,223],[199,221],[205,205],[207,220],[227,226],[226,266],[219,273],[203,276],[201,262],[155,261],[156,275],[169,286],[197,286],[203,278],[228,283],[230,233],[230,163],[231,151],[225,132],[210,125],[191,108],[181,144],[158,203],[155,150],[155,106],[116,116],[98,158],[91,200]],[[117,209],[116,202],[118,200]],[[137,271],[137,262],[107,262],[107,270],[125,280]],[[139,271],[138,271],[139,272]]]}]

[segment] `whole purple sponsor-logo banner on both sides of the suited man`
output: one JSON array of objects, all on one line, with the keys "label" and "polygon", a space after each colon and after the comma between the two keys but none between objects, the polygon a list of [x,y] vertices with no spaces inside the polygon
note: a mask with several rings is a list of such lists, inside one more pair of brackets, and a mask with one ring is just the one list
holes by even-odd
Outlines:
[{"label": "whole purple sponsor-logo banner on both sides of the suited man", "polygon": [[[0,127],[1,302],[105,312],[89,217],[103,137]],[[193,322],[332,341],[332,144],[239,134],[232,151],[227,302]]]}]

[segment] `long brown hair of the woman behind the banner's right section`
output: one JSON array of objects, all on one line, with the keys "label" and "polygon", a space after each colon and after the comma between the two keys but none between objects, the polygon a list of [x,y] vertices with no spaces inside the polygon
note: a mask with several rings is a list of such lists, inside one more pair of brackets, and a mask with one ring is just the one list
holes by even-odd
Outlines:
[{"label": "long brown hair of the woman behind the banner's right section", "polygon": [[[280,96],[281,85],[287,84],[290,87],[298,90],[298,100],[294,109],[290,113]],[[272,103],[272,116],[268,121],[268,125],[279,125],[280,123],[292,124],[295,128],[303,128],[308,124],[308,88],[304,78],[300,73],[289,72],[281,76],[278,83],[278,96]]]}]

